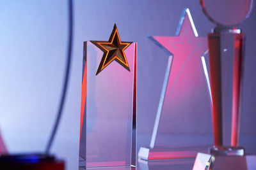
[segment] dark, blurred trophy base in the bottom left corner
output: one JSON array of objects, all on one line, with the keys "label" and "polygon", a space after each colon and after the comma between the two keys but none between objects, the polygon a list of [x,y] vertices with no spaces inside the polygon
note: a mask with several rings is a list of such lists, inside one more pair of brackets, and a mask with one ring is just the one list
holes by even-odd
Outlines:
[{"label": "dark, blurred trophy base in the bottom left corner", "polygon": [[0,169],[49,169],[64,170],[64,161],[56,160],[51,155],[26,153],[17,155],[1,155]]}]

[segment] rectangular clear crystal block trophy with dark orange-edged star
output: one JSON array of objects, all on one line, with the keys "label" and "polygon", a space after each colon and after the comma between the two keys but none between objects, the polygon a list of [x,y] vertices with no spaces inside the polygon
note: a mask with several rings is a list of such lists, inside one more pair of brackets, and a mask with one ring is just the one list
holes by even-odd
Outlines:
[{"label": "rectangular clear crystal block trophy with dark orange-edged star", "polygon": [[84,42],[79,167],[136,166],[137,43]]}]

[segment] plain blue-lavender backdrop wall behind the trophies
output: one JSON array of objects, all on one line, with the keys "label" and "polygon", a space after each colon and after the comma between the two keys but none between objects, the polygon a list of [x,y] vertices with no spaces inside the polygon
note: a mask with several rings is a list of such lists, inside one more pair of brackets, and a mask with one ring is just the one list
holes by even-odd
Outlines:
[{"label": "plain blue-lavender backdrop wall behind the trophies", "polygon": [[[138,145],[148,146],[167,55],[147,36],[174,36],[186,7],[199,36],[207,36],[214,25],[199,1],[74,1],[72,69],[52,148],[67,169],[78,163],[83,41],[108,40],[116,23],[122,40],[138,43]],[[67,16],[66,1],[0,1],[0,130],[12,153],[45,149],[63,83]],[[256,153],[255,20],[256,10],[241,24],[247,37],[240,144],[250,153]]]}]

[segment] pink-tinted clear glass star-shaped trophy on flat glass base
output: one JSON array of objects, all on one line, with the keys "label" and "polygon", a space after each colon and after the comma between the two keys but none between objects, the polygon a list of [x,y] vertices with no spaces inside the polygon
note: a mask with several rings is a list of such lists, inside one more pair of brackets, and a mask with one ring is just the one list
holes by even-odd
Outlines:
[{"label": "pink-tinted clear glass star-shaped trophy on flat glass base", "polygon": [[207,38],[198,36],[188,8],[182,13],[176,36],[149,38],[168,54],[168,62],[150,146],[141,147],[138,157],[195,159],[196,153],[207,152],[211,145],[208,134],[212,127],[205,122],[211,121],[211,97],[205,85],[209,76],[203,67]]}]

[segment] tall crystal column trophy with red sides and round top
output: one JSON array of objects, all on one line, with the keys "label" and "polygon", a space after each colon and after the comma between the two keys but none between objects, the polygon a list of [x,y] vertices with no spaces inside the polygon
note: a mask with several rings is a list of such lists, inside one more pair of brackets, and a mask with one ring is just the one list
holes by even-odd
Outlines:
[{"label": "tall crystal column trophy with red sides and round top", "polygon": [[245,36],[237,27],[249,17],[253,1],[201,4],[216,24],[208,34],[214,146],[211,155],[198,153],[193,169],[255,169],[256,156],[246,155],[238,143]]}]

